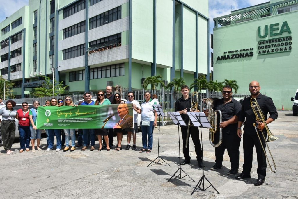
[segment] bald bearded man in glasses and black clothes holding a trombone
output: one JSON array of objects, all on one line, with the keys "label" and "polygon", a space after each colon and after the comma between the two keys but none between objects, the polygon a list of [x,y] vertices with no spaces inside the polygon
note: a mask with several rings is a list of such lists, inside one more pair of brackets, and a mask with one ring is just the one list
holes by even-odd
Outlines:
[{"label": "bald bearded man in glasses and black clothes holding a trombone", "polygon": [[[239,122],[238,122],[238,130],[237,134],[239,137],[241,137],[241,126],[245,120],[245,125],[243,128],[243,155],[244,155],[244,164],[243,164],[243,170],[240,176],[236,176],[236,179],[243,179],[243,178],[250,178],[250,171],[252,169],[252,153],[254,146],[256,147],[257,152],[257,162],[258,162],[258,168],[257,168],[257,174],[258,179],[254,183],[255,186],[262,185],[265,181],[266,177],[266,155],[262,149],[260,140],[257,136],[257,132],[254,129],[253,123],[256,123],[256,117],[254,115],[254,112],[252,110],[252,107],[250,105],[250,99],[256,98],[257,103],[259,104],[261,111],[263,112],[264,119],[266,120],[266,124],[269,124],[273,122],[275,119],[277,119],[277,110],[276,107],[273,104],[273,101],[270,97],[267,97],[265,95],[262,95],[260,93],[260,84],[259,82],[253,81],[249,84],[249,91],[252,94],[248,98],[245,98],[243,100],[243,104],[241,107],[241,112],[239,114]],[[269,118],[267,119],[268,112],[270,114]],[[264,129],[265,125],[262,122],[259,122],[257,125],[257,128],[260,130],[263,130],[263,134],[266,137],[266,129]],[[262,140],[262,144],[264,148],[266,147],[265,140],[263,138],[263,135],[260,135],[260,138]]]}]

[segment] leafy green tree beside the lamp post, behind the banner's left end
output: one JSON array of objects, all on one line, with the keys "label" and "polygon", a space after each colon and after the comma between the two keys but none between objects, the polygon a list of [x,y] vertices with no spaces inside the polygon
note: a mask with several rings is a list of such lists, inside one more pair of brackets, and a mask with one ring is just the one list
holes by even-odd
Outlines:
[{"label": "leafy green tree beside the lamp post, behind the banner's left end", "polygon": [[[50,80],[49,77],[41,76],[44,78],[41,87],[35,88],[33,95],[34,97],[52,97],[53,95],[53,82]],[[63,87],[63,82],[57,82],[56,79],[54,80],[54,96],[61,95],[64,93],[67,86]]]}]

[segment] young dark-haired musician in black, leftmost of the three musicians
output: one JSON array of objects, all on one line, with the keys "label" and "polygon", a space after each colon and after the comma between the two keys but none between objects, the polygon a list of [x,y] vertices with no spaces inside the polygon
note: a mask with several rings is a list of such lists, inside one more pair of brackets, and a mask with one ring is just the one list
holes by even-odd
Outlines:
[{"label": "young dark-haired musician in black, leftmost of the three musicians", "polygon": [[[189,96],[189,88],[187,85],[181,86],[181,93],[182,97],[179,98],[175,103],[175,112],[179,111],[182,119],[186,124],[188,124],[189,117],[187,115],[187,112],[191,111],[191,102],[192,98]],[[201,149],[201,143],[200,143],[200,137],[199,137],[199,129],[198,127],[195,127],[193,125],[190,126],[190,136],[193,139],[193,143],[195,145],[195,153],[197,154],[197,161],[198,166],[203,167],[202,163],[202,149]],[[181,165],[189,164],[190,163],[190,155],[189,155],[189,145],[187,145],[187,148],[185,147],[187,140],[187,126],[181,126],[181,135],[182,135],[182,142],[183,142],[183,155],[184,155],[184,162],[181,163]]]}]

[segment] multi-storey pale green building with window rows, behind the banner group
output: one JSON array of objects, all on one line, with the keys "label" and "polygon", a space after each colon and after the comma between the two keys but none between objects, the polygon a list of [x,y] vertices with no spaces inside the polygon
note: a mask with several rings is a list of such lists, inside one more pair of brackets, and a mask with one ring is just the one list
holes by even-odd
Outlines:
[{"label": "multi-storey pale green building with window rows, behind the banner group", "polygon": [[153,75],[187,84],[209,75],[208,1],[29,0],[0,29],[0,73],[15,82],[17,97],[31,97],[39,75],[53,73],[72,93],[142,89]]}]

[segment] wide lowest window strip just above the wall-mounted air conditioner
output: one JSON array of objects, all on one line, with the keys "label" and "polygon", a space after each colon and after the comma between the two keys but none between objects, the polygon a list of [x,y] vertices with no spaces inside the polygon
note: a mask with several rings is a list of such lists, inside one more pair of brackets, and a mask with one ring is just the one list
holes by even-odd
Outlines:
[{"label": "wide lowest window strip just above the wall-mounted air conditioner", "polygon": [[102,66],[97,68],[90,68],[90,79],[101,79],[106,77],[124,76],[125,75],[124,69],[125,69],[124,63]]}]

